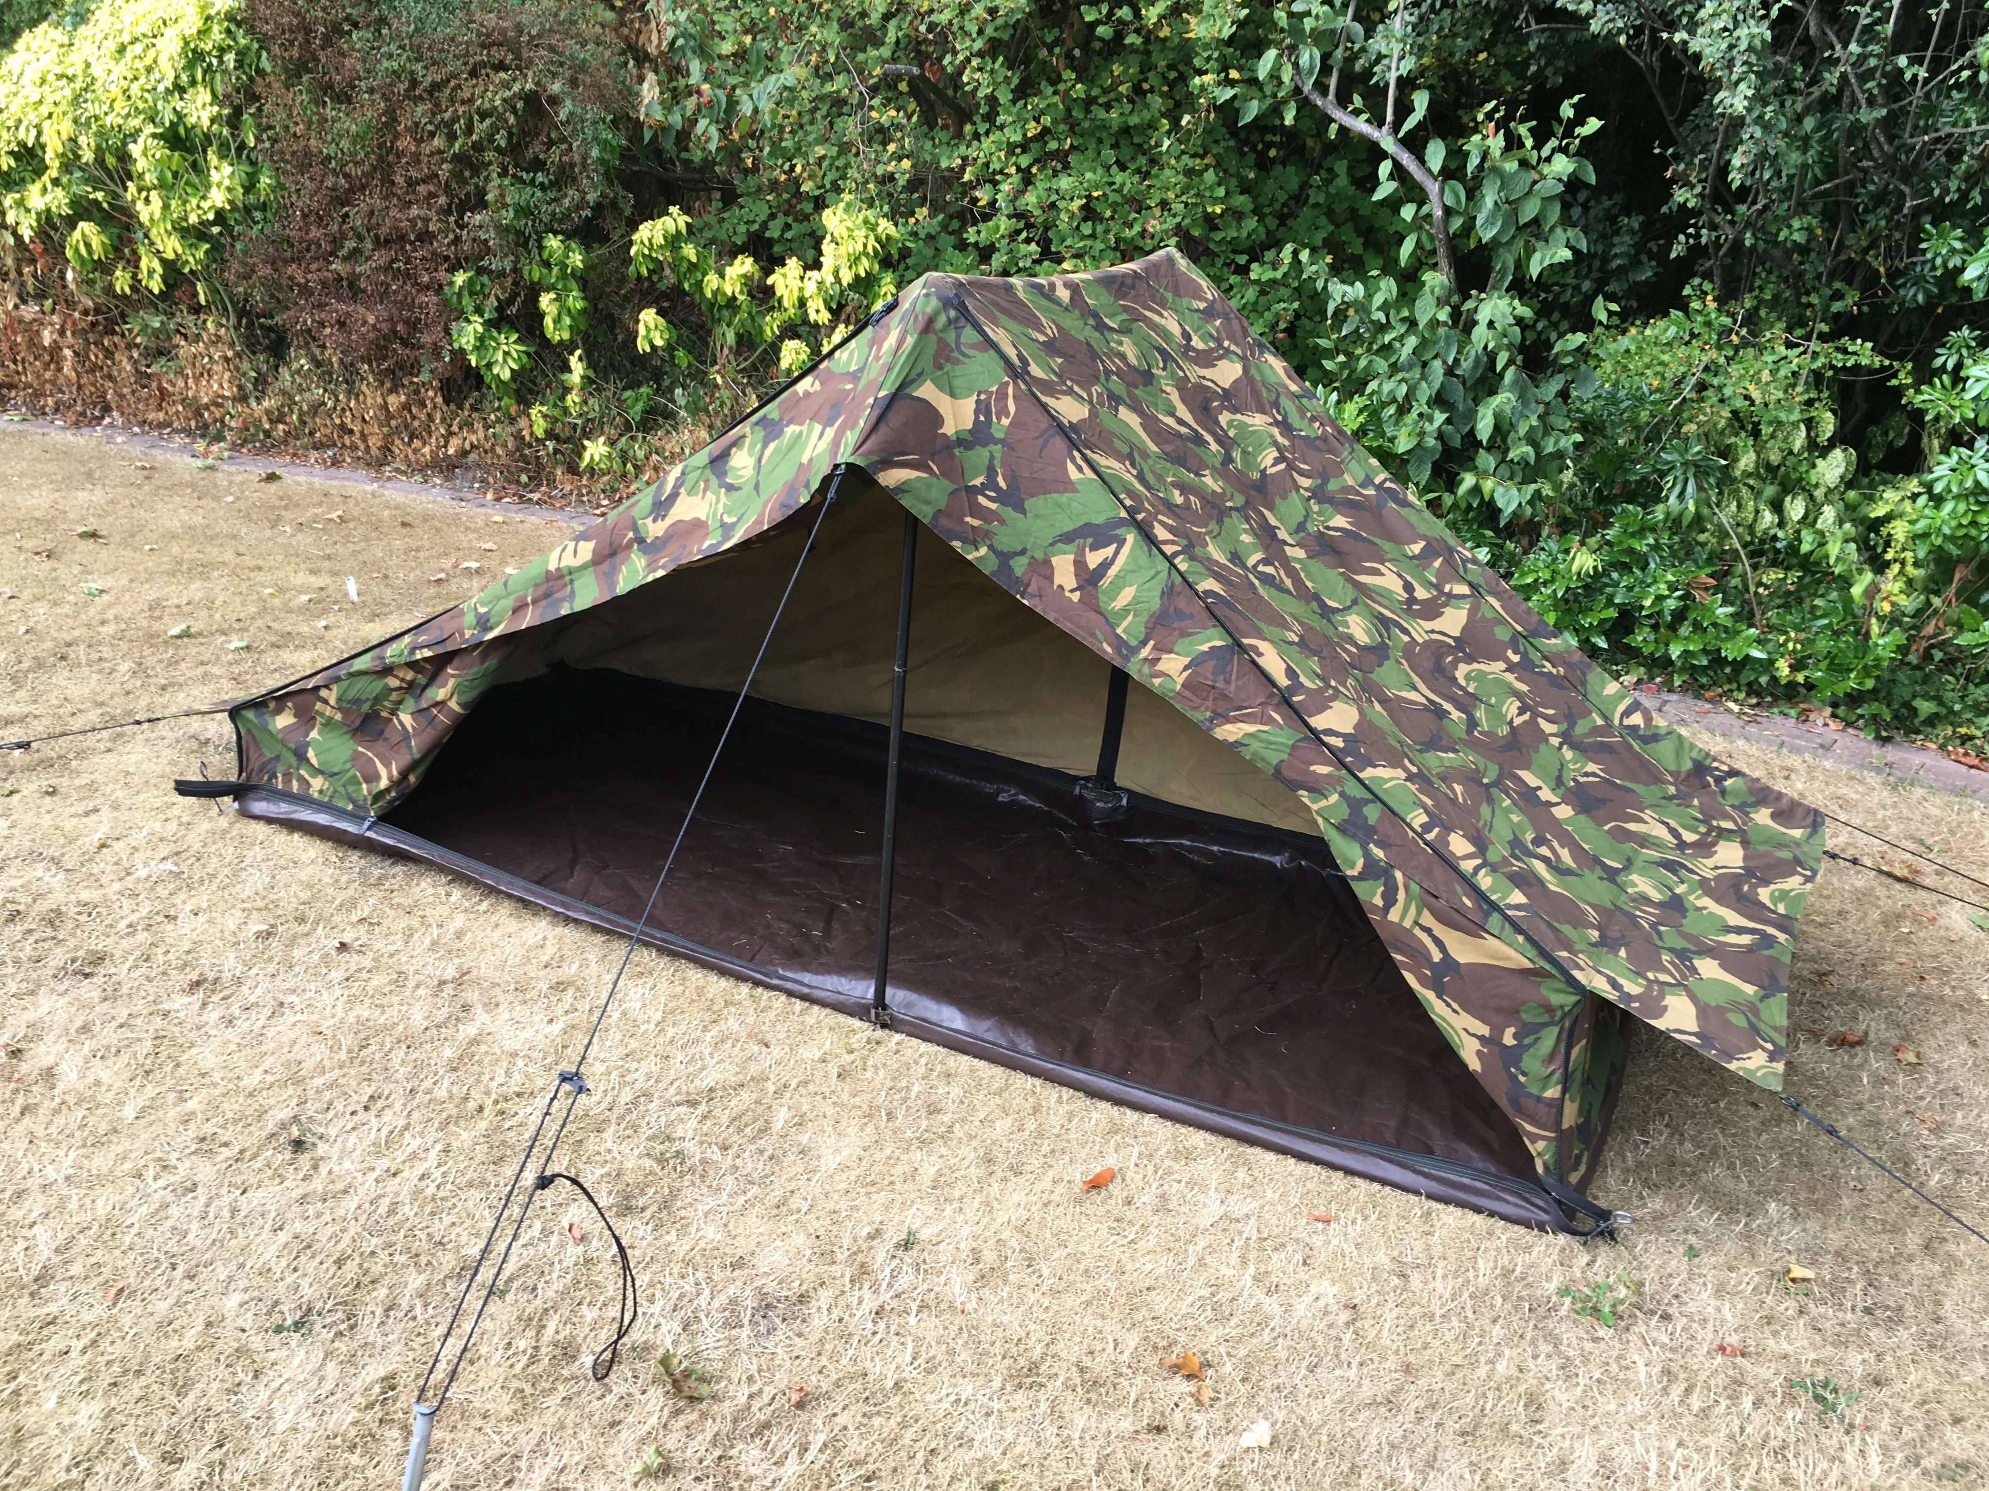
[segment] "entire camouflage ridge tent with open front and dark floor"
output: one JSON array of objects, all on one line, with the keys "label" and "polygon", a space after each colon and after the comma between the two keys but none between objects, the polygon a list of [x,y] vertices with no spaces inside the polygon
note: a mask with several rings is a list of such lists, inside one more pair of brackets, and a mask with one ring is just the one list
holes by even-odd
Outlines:
[{"label": "entire camouflage ridge tent with open front and dark floor", "polygon": [[1619,1012],[1778,1089],[1818,813],[1545,626],[1175,252],[917,280],[237,706],[243,811],[631,926],[823,513],[654,940],[869,1008],[903,565],[899,1030],[1543,1227],[1607,1215]]}]

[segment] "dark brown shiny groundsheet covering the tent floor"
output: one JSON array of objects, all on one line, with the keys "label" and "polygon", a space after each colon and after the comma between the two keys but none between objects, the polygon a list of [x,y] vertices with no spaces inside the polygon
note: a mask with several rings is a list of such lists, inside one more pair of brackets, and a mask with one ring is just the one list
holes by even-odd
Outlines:
[{"label": "dark brown shiny groundsheet covering the tent floor", "polygon": [[[503,686],[388,821],[634,918],[726,708],[613,672]],[[1325,845],[1144,799],[1092,821],[1068,777],[921,740],[901,793],[903,1024],[1532,1179]],[[654,920],[784,988],[867,1000],[881,819],[883,730],[748,702]]]}]

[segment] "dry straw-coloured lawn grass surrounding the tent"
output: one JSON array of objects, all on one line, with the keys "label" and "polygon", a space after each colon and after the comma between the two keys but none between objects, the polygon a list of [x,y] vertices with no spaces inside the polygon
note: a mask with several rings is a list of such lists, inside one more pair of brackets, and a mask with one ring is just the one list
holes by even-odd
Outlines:
[{"label": "dry straw-coloured lawn grass surrounding the tent", "polygon": [[[302,672],[467,590],[424,579],[440,561],[517,563],[553,535],[4,431],[0,509],[0,586],[26,594],[0,600],[0,736]],[[195,634],[167,640],[181,620]],[[436,871],[167,795],[201,757],[221,773],[225,742],[191,720],[0,757],[0,1485],[396,1483],[438,1312],[619,956]],[[1730,753],[1989,869],[1979,807]],[[1794,1006],[1822,1034],[1790,1070],[1977,1221],[1985,950],[1957,909],[1830,867]],[[1870,1036],[1826,1046],[1844,1028]],[[660,954],[591,1068],[567,1161],[634,1250],[636,1350],[589,1380],[613,1256],[591,1219],[575,1246],[549,1193],[442,1417],[438,1491],[627,1485],[646,1445],[662,1485],[742,1489],[1989,1483],[1989,1252],[1657,1036],[1595,1187],[1639,1215],[1617,1248]],[[1080,1199],[1102,1165],[1118,1179]],[[1790,1262],[1814,1292],[1782,1286]],[[1555,1294],[1617,1270],[1641,1288],[1615,1330]],[[1160,1368],[1183,1346],[1207,1408]],[[664,1348],[710,1370],[708,1402],[650,1372]],[[1862,1396],[1840,1423],[1792,1378]],[[1239,1449],[1255,1419],[1271,1447]]]}]

